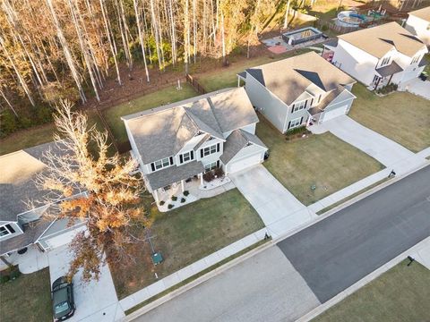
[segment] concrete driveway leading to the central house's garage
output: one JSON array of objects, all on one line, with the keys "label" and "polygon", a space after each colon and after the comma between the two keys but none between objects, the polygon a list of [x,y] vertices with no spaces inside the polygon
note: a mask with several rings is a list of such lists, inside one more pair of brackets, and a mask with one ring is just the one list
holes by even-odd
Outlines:
[{"label": "concrete driveway leading to the central house's garage", "polygon": [[272,237],[288,233],[316,216],[263,165],[228,176],[262,217]]}]

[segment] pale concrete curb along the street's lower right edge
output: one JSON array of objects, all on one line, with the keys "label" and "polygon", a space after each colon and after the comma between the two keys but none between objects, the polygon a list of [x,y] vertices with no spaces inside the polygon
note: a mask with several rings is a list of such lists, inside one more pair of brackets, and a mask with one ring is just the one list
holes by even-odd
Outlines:
[{"label": "pale concrete curb along the street's lower right edge", "polygon": [[427,237],[421,242],[418,242],[415,246],[412,246],[409,248],[409,250],[403,251],[400,255],[398,255],[395,258],[392,258],[388,263],[384,264],[382,267],[379,267],[375,269],[372,273],[369,275],[366,275],[362,279],[360,279],[357,283],[352,284],[349,286],[346,290],[340,292],[338,295],[332,297],[329,301],[326,301],[325,303],[321,304],[320,306],[316,307],[315,309],[311,310],[307,314],[305,314],[301,318],[297,318],[296,322],[307,322],[310,321],[313,318],[316,318],[320,314],[322,314],[325,310],[330,309],[332,306],[336,305],[340,301],[347,298],[349,295],[351,295],[354,292],[357,292],[360,288],[365,286],[366,284],[372,282],[375,278],[382,275],[392,267],[395,267],[397,264],[399,264],[401,261],[403,261],[405,258],[407,258],[412,253],[416,252],[417,250],[422,249],[427,242],[430,242],[430,237]]}]

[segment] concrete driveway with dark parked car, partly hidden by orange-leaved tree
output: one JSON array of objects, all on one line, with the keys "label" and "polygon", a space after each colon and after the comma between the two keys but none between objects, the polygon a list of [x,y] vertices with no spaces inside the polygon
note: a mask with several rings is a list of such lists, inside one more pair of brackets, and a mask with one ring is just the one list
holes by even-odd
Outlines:
[{"label": "concrete driveway with dark parked car, partly hidden by orange-leaved tree", "polygon": [[[49,275],[52,283],[67,273],[71,260],[67,246],[48,253]],[[107,266],[102,267],[99,281],[82,284],[81,272],[73,277],[74,301],[76,312],[67,321],[116,321],[124,318],[124,311],[116,297],[112,275]]]}]

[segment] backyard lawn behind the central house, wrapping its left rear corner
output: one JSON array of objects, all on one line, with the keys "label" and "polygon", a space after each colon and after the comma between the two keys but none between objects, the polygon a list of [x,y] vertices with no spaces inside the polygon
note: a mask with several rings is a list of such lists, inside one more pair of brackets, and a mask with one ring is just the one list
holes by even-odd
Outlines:
[{"label": "backyard lawn behind the central house, wrapping its left rear corner", "polygon": [[153,107],[174,103],[189,97],[197,96],[198,93],[188,83],[182,84],[182,89],[177,90],[176,86],[160,89],[142,97],[133,99],[117,106],[112,106],[103,111],[107,123],[111,128],[116,140],[124,142],[127,139],[125,126],[121,121],[121,116],[137,113]]}]

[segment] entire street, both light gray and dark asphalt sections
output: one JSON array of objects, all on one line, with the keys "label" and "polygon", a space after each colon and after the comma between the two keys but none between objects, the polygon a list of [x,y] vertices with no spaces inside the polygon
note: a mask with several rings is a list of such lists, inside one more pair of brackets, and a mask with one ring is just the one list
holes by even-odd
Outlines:
[{"label": "entire street, both light gray and dark asphalt sections", "polygon": [[430,166],[136,321],[291,321],[430,235]]}]

